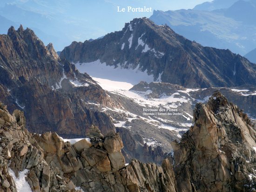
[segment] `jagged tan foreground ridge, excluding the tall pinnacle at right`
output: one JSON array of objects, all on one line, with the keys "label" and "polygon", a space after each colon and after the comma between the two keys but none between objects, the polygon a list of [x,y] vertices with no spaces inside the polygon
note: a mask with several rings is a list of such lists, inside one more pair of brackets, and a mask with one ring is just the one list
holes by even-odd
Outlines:
[{"label": "jagged tan foreground ridge, excluding the tall pinnacle at right", "polygon": [[137,160],[125,165],[119,134],[98,133],[72,145],[54,132],[29,133],[25,121],[23,112],[11,115],[0,103],[0,191],[20,190],[15,180],[25,171],[33,192],[176,192],[168,159],[160,167]]}]

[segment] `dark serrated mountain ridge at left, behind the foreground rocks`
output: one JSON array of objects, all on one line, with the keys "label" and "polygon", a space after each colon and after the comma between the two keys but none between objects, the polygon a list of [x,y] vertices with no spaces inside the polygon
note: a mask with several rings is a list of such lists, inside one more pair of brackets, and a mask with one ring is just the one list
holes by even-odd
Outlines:
[{"label": "dark serrated mountain ridge at left, behind the foreground rocks", "polygon": [[93,101],[113,106],[107,93],[88,74],[60,60],[52,44],[44,46],[22,26],[0,35],[0,99],[11,112],[24,111],[31,132],[81,137],[92,125],[103,134],[115,132],[108,115],[85,105]]}]

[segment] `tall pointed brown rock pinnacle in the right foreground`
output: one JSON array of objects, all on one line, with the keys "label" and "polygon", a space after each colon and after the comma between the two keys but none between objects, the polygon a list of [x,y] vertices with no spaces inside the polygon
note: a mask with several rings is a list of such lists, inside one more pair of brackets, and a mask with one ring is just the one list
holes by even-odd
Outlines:
[{"label": "tall pointed brown rock pinnacle in the right foreground", "polygon": [[172,143],[178,191],[242,192],[255,188],[256,128],[216,92],[196,104],[194,125]]}]

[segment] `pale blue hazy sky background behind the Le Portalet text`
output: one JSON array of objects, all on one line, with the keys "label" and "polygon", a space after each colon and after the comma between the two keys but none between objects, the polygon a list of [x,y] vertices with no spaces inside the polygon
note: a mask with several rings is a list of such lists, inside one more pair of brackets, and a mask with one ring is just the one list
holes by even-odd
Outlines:
[{"label": "pale blue hazy sky background behind the Le Portalet text", "polygon": [[[72,41],[120,31],[134,18],[149,18],[153,10],[189,9],[206,1],[210,0],[0,0],[0,16],[12,21],[6,21],[5,28],[0,26],[0,32],[7,32],[9,25],[17,28],[22,24],[59,51]],[[152,12],[128,12],[128,6],[145,6]],[[126,11],[118,12],[118,7]]]}]

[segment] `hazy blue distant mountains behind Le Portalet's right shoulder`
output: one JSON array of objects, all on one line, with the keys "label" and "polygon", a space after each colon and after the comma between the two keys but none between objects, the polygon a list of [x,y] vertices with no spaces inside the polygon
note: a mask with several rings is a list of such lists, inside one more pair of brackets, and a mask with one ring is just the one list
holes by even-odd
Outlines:
[{"label": "hazy blue distant mountains behind Le Portalet's right shoulder", "polygon": [[207,10],[154,11],[150,20],[158,25],[167,24],[176,33],[203,46],[228,48],[241,55],[256,47],[255,0],[239,0],[225,9]]}]

